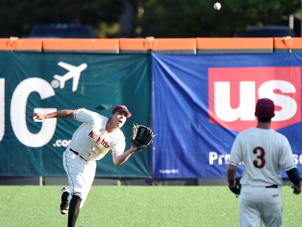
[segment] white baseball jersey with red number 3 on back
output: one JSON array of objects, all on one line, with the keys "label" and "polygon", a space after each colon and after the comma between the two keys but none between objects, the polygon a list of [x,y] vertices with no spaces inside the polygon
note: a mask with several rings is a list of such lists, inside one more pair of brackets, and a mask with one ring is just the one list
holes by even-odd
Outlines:
[{"label": "white baseball jersey with red number 3 on back", "polygon": [[234,141],[229,164],[244,170],[240,183],[265,187],[283,185],[281,169],[297,168],[288,139],[273,129],[251,128],[239,133]]}]

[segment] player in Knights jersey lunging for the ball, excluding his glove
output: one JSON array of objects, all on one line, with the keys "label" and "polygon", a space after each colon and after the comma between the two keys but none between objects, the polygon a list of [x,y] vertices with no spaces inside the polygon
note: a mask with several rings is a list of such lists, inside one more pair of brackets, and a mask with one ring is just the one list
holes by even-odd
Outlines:
[{"label": "player in Knights jersey lunging for the ball, excluding his glove", "polygon": [[118,105],[107,118],[86,109],[59,110],[51,114],[32,113],[34,119],[74,118],[83,122],[73,133],[71,142],[63,153],[63,165],[68,175],[70,188],[62,189],[60,211],[68,213],[68,227],[74,227],[92,181],[95,177],[96,160],[112,151],[115,165],[124,163],[137,148],[124,152],[126,143],[120,128],[131,117],[127,107]]}]

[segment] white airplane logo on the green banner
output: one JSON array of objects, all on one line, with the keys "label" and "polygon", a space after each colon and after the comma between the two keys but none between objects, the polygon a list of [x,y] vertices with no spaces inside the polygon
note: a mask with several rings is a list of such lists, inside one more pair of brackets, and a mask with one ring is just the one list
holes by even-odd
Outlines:
[{"label": "white airplane logo on the green banner", "polygon": [[60,82],[60,88],[65,87],[65,82],[71,78],[72,79],[72,91],[76,91],[78,89],[78,84],[80,80],[81,72],[87,68],[87,64],[83,63],[79,66],[73,66],[65,62],[58,62],[58,65],[61,66],[64,69],[69,70],[65,75],[59,76],[54,75],[53,78],[57,79]]}]

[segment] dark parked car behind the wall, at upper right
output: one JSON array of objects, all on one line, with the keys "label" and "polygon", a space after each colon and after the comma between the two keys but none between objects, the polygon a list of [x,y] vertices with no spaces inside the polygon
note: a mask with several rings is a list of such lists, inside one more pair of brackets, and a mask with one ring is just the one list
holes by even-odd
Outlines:
[{"label": "dark parked car behind the wall, at upper right", "polygon": [[296,34],[286,25],[272,25],[272,26],[252,26],[248,31],[239,31],[233,37],[296,37]]}]

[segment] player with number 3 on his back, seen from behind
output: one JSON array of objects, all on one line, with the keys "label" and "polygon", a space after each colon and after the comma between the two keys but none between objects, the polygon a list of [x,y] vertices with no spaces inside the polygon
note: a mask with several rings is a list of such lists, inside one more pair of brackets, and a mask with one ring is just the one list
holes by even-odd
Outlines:
[{"label": "player with number 3 on his back, seen from behind", "polygon": [[300,176],[288,139],[271,129],[275,116],[274,102],[259,99],[255,128],[239,133],[234,141],[226,169],[229,187],[235,187],[237,166],[243,162],[242,184],[239,198],[241,227],[266,227],[282,225],[283,204],[281,169],[286,171],[295,194],[301,192]]}]

